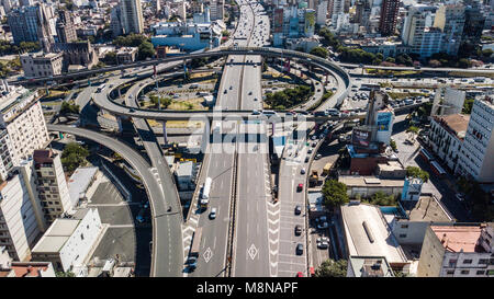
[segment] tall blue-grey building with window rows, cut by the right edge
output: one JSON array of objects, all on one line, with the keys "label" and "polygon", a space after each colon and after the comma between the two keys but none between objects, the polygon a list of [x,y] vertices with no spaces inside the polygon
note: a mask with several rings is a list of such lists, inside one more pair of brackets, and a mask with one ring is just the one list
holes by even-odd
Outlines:
[{"label": "tall blue-grey building with window rows, cut by the right edge", "polygon": [[494,104],[486,96],[473,102],[457,172],[480,183],[494,182]]}]

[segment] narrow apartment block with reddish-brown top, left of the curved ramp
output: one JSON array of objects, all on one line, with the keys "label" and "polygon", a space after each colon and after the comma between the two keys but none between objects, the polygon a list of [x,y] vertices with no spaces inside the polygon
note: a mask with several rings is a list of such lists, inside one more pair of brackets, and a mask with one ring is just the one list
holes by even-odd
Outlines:
[{"label": "narrow apartment block with reddish-brown top, left of the curved ramp", "polygon": [[33,160],[40,202],[46,221],[52,223],[74,207],[60,156],[52,150],[35,150]]}]

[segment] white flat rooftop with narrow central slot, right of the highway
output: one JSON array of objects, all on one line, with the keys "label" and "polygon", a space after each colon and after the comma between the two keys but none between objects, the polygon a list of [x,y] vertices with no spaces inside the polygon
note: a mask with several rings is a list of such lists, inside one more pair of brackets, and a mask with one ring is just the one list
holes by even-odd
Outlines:
[{"label": "white flat rooftop with narrow central slot, right of the highway", "polygon": [[[384,256],[391,264],[407,262],[379,207],[366,204],[341,206],[341,217],[349,255]],[[373,242],[366,232],[363,221],[373,235]]]}]

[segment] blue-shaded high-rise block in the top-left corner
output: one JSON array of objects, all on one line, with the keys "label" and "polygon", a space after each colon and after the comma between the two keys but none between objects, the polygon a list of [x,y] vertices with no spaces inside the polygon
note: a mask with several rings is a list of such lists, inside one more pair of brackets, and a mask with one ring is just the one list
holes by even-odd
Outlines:
[{"label": "blue-shaded high-rise block in the top-left corner", "polygon": [[44,49],[54,42],[48,20],[44,3],[15,9],[7,18],[16,45],[22,42],[38,42]]}]

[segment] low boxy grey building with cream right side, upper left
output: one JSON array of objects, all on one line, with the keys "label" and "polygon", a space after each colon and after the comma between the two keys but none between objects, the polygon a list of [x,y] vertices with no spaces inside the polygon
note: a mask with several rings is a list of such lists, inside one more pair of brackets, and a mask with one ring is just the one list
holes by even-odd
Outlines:
[{"label": "low boxy grey building with cream right side, upper left", "polygon": [[24,77],[53,77],[61,73],[64,56],[60,53],[21,55]]}]

